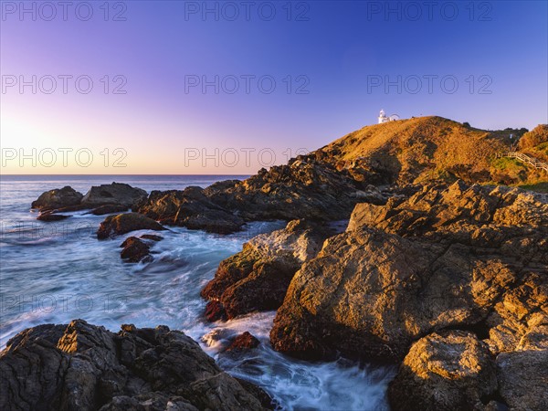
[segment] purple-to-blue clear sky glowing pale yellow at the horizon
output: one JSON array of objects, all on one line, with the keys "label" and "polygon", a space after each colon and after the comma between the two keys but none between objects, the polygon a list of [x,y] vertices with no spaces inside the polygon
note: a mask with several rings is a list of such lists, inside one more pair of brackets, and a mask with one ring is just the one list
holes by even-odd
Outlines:
[{"label": "purple-to-blue clear sky glowing pale yellow at the horizon", "polygon": [[2,174],[254,174],[377,120],[548,122],[548,2],[2,1]]}]

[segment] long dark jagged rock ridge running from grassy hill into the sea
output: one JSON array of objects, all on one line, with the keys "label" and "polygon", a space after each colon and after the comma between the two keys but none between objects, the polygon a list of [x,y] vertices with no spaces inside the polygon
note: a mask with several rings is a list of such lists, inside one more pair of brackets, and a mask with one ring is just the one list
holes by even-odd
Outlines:
[{"label": "long dark jagged rock ridge running from grassy hill into the sea", "polygon": [[204,190],[154,191],[133,211],[165,224],[220,234],[237,231],[244,221],[348,219],[358,202],[385,204],[385,195],[367,189],[365,180],[338,172],[313,155],[300,156],[245,181],[219,182]]}]

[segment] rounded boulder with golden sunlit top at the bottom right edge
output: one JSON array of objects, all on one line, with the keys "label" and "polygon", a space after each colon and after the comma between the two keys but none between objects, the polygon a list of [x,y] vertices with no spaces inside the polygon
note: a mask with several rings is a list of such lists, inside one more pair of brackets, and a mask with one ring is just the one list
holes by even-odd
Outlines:
[{"label": "rounded boulder with golden sunlit top at the bottom right edge", "polygon": [[484,409],[497,391],[494,359],[472,332],[427,335],[415,342],[390,383],[394,411]]}]

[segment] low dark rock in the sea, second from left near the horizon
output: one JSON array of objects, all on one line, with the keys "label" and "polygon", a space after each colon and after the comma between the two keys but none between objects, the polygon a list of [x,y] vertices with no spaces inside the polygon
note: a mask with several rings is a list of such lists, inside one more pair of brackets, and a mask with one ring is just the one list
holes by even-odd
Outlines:
[{"label": "low dark rock in the sea, second from left near the horizon", "polygon": [[93,186],[81,200],[82,205],[96,208],[100,205],[132,205],[143,201],[147,197],[146,191],[132,187],[130,184],[112,183]]}]

